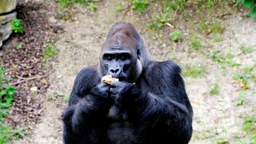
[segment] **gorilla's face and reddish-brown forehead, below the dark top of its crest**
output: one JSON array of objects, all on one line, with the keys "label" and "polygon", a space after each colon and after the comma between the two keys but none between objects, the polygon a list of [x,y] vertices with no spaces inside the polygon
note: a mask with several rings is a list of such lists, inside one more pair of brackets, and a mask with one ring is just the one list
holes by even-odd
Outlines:
[{"label": "gorilla's face and reddish-brown forehead, below the dark top of its crest", "polygon": [[110,74],[119,81],[136,81],[142,72],[139,54],[137,41],[125,31],[118,31],[102,46],[102,75]]}]

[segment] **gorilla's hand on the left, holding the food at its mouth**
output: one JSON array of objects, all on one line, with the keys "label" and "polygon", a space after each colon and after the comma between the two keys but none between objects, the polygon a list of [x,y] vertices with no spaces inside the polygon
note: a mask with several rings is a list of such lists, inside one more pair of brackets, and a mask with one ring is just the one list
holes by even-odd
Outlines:
[{"label": "gorilla's hand on the left, holding the food at its mouth", "polygon": [[93,95],[95,99],[106,100],[110,98],[110,85],[101,82],[90,90],[90,94]]}]

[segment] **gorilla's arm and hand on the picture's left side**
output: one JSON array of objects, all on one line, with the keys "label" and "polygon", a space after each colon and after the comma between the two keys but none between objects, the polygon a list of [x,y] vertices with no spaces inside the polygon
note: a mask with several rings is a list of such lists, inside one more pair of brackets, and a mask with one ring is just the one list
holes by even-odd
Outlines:
[{"label": "gorilla's arm and hand on the picture's left side", "polygon": [[75,79],[69,106],[63,114],[64,143],[94,143],[100,139],[97,126],[110,107],[110,86],[100,83],[96,74],[90,67],[81,70]]}]

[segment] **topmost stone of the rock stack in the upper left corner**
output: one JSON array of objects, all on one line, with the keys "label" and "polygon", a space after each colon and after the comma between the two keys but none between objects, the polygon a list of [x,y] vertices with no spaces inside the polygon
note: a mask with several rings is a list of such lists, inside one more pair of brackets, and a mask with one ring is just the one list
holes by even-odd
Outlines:
[{"label": "topmost stone of the rock stack in the upper left corner", "polygon": [[8,13],[16,8],[16,0],[0,0],[0,14]]}]

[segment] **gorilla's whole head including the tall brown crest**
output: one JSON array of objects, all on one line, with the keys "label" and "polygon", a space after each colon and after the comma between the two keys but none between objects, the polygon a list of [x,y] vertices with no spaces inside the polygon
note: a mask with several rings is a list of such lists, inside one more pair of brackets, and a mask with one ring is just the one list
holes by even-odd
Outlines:
[{"label": "gorilla's whole head including the tall brown crest", "polygon": [[102,75],[135,82],[148,62],[148,53],[134,26],[117,23],[107,35],[100,55]]}]

